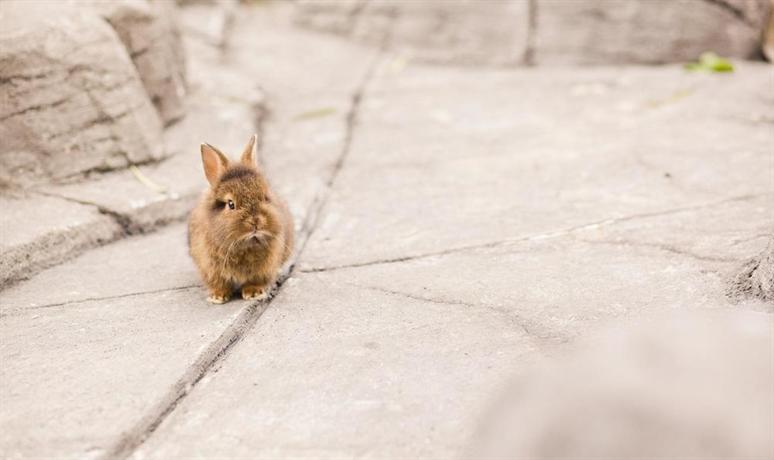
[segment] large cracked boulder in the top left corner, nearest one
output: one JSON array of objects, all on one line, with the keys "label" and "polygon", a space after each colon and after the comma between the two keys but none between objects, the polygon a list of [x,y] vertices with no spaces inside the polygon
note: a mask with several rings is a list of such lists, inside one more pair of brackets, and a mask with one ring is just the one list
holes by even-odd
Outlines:
[{"label": "large cracked boulder in the top left corner, nearest one", "polygon": [[107,23],[64,4],[4,2],[0,31],[3,181],[161,157],[158,115]]}]

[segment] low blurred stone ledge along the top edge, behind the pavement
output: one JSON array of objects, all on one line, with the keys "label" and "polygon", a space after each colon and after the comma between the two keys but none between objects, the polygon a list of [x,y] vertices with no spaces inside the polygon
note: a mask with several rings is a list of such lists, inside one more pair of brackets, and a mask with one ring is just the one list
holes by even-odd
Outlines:
[{"label": "low blurred stone ledge along the top edge, behind the pavement", "polygon": [[417,61],[468,65],[685,62],[760,54],[769,0],[303,0],[298,25]]}]

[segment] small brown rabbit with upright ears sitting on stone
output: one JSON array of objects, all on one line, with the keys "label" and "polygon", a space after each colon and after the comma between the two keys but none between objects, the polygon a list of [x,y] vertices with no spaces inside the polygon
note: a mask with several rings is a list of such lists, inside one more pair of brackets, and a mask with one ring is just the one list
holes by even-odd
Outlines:
[{"label": "small brown rabbit with upright ears sitting on stone", "polygon": [[245,299],[268,297],[293,249],[293,219],[258,170],[256,141],[238,163],[201,146],[210,187],[191,213],[188,244],[212,303],[228,301],[236,288]]}]

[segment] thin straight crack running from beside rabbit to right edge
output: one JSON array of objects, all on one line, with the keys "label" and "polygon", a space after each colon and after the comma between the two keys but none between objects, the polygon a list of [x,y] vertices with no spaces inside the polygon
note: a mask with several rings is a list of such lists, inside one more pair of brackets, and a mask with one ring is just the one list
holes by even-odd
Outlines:
[{"label": "thin straight crack running from beside rabbit to right edge", "polygon": [[[682,212],[690,212],[695,211],[699,209],[706,209],[706,208],[712,208],[714,206],[718,206],[725,203],[731,203],[735,201],[747,201],[755,198],[760,198],[764,196],[770,196],[771,193],[760,193],[760,194],[746,194],[746,195],[739,195],[735,197],[725,198],[718,201],[712,201],[709,203],[703,203],[693,206],[683,206],[679,208],[673,208],[673,209],[666,209],[663,211],[653,211],[653,212],[645,212],[645,213],[639,213],[639,214],[631,214],[628,216],[623,217],[613,217],[608,219],[602,219],[597,220],[594,222],[590,222],[587,224],[581,224],[581,225],[575,225],[572,227],[568,227],[561,230],[553,230],[549,232],[544,233],[538,233],[534,235],[527,235],[517,238],[507,238],[504,240],[497,240],[497,241],[490,241],[488,243],[480,243],[480,244],[471,244],[471,245],[465,245],[465,246],[458,246],[454,248],[449,249],[443,249],[440,251],[431,251],[431,252],[424,252],[420,254],[413,254],[413,255],[406,255],[406,256],[400,256],[400,257],[393,257],[393,258],[386,258],[386,259],[376,259],[372,261],[367,262],[355,262],[351,264],[342,264],[342,265],[333,265],[329,267],[311,267],[311,268],[301,268],[299,269],[299,272],[301,273],[317,273],[317,272],[327,272],[327,271],[334,271],[334,270],[343,270],[348,268],[360,268],[360,267],[369,267],[372,265],[384,265],[384,264],[394,264],[399,262],[407,262],[411,260],[419,260],[419,259],[426,259],[430,257],[437,257],[437,256],[445,256],[449,254],[456,254],[460,252],[467,252],[472,251],[476,249],[488,249],[488,248],[494,248],[499,246],[505,246],[509,244],[516,244],[516,243],[522,243],[525,241],[539,241],[539,240],[545,240],[545,239],[551,239],[551,238],[558,238],[562,236],[571,235],[573,233],[583,231],[583,230],[591,230],[595,228],[600,227],[607,227],[610,225],[615,225],[621,222],[627,222],[631,220],[639,220],[639,219],[647,219],[651,217],[660,217],[670,214],[678,214]],[[662,248],[664,249],[664,248]],[[674,248],[672,252],[677,252],[678,250]],[[689,253],[685,253],[685,255],[690,255]],[[698,258],[694,255],[695,258]],[[733,260],[717,260],[719,262],[733,262]]]}]

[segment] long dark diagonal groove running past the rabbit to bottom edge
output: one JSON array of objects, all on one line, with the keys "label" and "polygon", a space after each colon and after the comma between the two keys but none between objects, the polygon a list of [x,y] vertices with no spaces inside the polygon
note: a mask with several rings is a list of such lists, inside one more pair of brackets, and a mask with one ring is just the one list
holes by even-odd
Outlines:
[{"label": "long dark diagonal groove running past the rabbit to bottom edge", "polygon": [[294,263],[306,247],[307,242],[314,233],[320,216],[330,196],[331,189],[349,155],[353,132],[357,124],[357,116],[363,94],[370,83],[378,63],[381,61],[383,49],[375,53],[369,64],[363,79],[355,88],[351,97],[350,107],[347,113],[346,132],[342,145],[342,151],[333,165],[331,173],[326,181],[323,192],[310,205],[307,216],[301,227],[298,250],[292,256],[292,261],[280,275],[268,299],[258,301],[243,309],[237,318],[221,333],[221,335],[199,355],[196,361],[178,379],[172,388],[161,400],[152,407],[133,427],[123,434],[118,441],[110,446],[103,459],[126,459],[130,457],[161,425],[161,423],[175,410],[180,402],[193,390],[196,384],[207,375],[215,364],[223,360],[231,348],[239,342],[258,321],[264,311],[269,307],[271,300],[277,294],[284,282],[292,275]]}]

